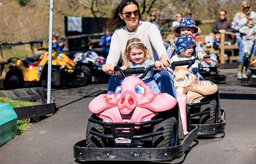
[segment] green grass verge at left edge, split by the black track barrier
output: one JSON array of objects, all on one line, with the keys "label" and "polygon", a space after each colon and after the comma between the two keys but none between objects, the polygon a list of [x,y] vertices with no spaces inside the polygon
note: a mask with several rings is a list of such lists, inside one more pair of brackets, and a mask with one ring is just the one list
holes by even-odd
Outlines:
[{"label": "green grass verge at left edge, split by the black track barrier", "polygon": [[[28,101],[16,101],[16,100],[10,100],[7,97],[0,97],[0,103],[10,103],[11,107],[23,107],[23,106],[31,106],[32,103]],[[22,130],[24,128],[27,128],[30,125],[30,122],[28,122],[28,119],[18,120],[17,121],[17,131],[13,137],[19,136],[22,134]]]}]

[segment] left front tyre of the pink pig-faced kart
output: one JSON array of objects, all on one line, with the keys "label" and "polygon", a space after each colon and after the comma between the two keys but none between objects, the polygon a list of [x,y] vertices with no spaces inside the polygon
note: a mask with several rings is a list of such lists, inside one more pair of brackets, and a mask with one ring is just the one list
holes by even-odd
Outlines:
[{"label": "left front tyre of the pink pig-faced kart", "polygon": [[105,147],[105,141],[101,137],[94,136],[89,133],[90,130],[96,131],[98,133],[105,133],[105,128],[99,124],[88,122],[87,128],[86,128],[86,140],[85,144],[87,148],[104,148]]}]

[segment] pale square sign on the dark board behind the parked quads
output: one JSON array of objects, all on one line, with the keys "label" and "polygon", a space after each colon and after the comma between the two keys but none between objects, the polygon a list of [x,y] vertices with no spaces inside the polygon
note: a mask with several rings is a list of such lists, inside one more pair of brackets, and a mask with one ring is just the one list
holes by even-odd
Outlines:
[{"label": "pale square sign on the dark board behind the parked quads", "polygon": [[68,16],[68,31],[82,32],[81,16]]}]

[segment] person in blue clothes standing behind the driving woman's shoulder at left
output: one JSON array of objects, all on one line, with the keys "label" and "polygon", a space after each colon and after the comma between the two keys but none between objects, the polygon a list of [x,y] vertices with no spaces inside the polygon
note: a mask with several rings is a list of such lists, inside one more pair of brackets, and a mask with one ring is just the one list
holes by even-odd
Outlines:
[{"label": "person in blue clothes standing behind the driving woman's shoulder at left", "polygon": [[111,42],[112,36],[110,35],[109,31],[106,30],[106,27],[103,28],[103,32],[104,32],[104,36],[101,37],[101,41],[99,45],[102,46],[101,56],[104,58],[107,58],[109,54],[109,48],[110,48],[110,42]]}]

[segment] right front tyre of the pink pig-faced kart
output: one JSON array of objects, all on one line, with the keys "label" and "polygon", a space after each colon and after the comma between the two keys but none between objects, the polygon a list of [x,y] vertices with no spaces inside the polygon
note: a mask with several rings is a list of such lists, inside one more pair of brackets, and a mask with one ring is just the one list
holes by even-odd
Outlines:
[{"label": "right front tyre of the pink pig-faced kart", "polygon": [[177,120],[175,117],[156,124],[153,132],[157,131],[163,131],[163,135],[153,137],[153,148],[167,148],[177,144]]}]

